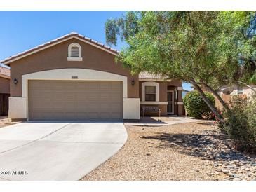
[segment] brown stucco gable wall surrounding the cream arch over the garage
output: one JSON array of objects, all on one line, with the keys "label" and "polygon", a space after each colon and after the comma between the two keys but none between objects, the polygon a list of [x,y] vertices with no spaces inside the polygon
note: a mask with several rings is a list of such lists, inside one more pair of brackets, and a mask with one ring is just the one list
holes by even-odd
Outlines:
[{"label": "brown stucco gable wall surrounding the cream arch over the garage", "polygon": [[[67,61],[67,48],[70,43],[80,44],[83,61]],[[22,96],[22,75],[37,71],[67,68],[94,69],[127,76],[128,97],[139,97],[138,76],[132,76],[130,71],[125,69],[121,63],[116,63],[114,61],[114,57],[114,55],[94,46],[90,46],[78,39],[69,39],[68,41],[41,50],[33,55],[11,62],[11,82],[13,82],[14,78],[17,78],[18,80],[17,85],[11,83],[11,97]],[[135,81],[135,85],[131,85],[132,80]]]}]

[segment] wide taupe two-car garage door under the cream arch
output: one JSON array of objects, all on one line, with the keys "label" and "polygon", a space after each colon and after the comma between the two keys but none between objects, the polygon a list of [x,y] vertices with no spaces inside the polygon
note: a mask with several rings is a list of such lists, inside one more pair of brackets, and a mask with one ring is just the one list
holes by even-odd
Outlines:
[{"label": "wide taupe two-car garage door under the cream arch", "polygon": [[121,121],[121,81],[29,81],[29,121]]}]

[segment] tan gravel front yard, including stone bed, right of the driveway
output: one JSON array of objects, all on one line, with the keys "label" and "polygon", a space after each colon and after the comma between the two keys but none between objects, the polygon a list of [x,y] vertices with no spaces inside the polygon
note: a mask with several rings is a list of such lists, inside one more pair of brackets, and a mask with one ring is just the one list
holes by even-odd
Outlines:
[{"label": "tan gravel front yard, including stone bed, right of the driveway", "polygon": [[213,123],[126,130],[123,148],[81,180],[256,180],[256,157],[236,151]]}]

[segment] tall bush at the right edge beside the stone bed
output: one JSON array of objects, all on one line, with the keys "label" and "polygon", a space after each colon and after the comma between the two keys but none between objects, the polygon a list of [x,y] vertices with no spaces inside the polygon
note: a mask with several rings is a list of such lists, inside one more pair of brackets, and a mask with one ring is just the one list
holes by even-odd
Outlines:
[{"label": "tall bush at the right edge beside the stone bed", "polygon": [[222,130],[234,139],[240,151],[256,151],[256,95],[252,98],[234,96],[231,111],[224,113]]}]

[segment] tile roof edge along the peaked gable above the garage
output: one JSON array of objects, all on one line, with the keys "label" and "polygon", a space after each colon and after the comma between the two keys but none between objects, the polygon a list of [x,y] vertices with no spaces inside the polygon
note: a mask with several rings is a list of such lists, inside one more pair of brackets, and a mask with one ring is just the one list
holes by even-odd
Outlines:
[{"label": "tile roof edge along the peaked gable above the garage", "polygon": [[103,48],[103,49],[105,49],[105,50],[107,50],[107,51],[109,51],[109,52],[111,52],[111,53],[114,53],[114,54],[119,53],[119,51],[118,51],[118,50],[115,50],[114,48],[110,48],[109,46],[105,46],[104,44],[102,44],[102,43],[100,43],[100,42],[98,42],[98,41],[95,41],[95,40],[93,40],[93,39],[90,39],[90,38],[88,38],[88,37],[86,37],[86,36],[83,36],[83,35],[81,35],[81,34],[78,34],[78,33],[76,33],[76,32],[71,32],[70,34],[66,34],[65,36],[61,36],[61,37],[59,37],[59,38],[57,38],[57,39],[53,39],[52,41],[48,41],[47,43],[43,43],[42,45],[36,46],[36,47],[31,48],[31,49],[29,49],[29,50],[25,50],[25,51],[22,52],[22,53],[18,53],[17,55],[13,55],[13,56],[11,56],[11,57],[8,57],[8,58],[6,58],[6,59],[4,59],[4,60],[1,60],[0,62],[1,62],[1,63],[9,62],[9,61],[11,61],[11,60],[14,60],[14,59],[20,57],[20,56],[27,55],[27,54],[29,54],[29,53],[32,53],[32,52],[35,51],[35,50],[39,50],[40,48],[44,48],[44,47],[46,47],[46,46],[50,46],[50,45],[53,44],[53,43],[58,43],[58,41],[62,41],[62,40],[65,40],[65,39],[69,39],[69,38],[72,37],[72,36],[73,36],[73,37],[76,37],[76,38],[78,38],[78,39],[82,39],[83,41],[87,41],[88,43],[93,43],[93,45],[99,46],[100,48]]}]

